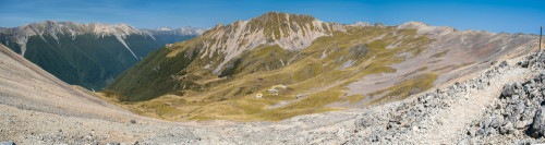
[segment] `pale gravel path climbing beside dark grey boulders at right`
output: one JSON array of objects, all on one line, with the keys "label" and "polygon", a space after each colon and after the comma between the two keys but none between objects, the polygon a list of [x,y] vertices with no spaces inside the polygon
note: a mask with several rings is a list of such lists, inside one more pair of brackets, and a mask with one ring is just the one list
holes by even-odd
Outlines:
[{"label": "pale gravel path climbing beside dark grey boulders at right", "polygon": [[504,84],[523,82],[531,76],[533,76],[532,72],[528,69],[510,68],[504,70],[501,75],[492,77],[491,80],[494,82],[482,90],[470,90],[452,96],[461,99],[450,104],[449,108],[432,116],[432,121],[435,120],[438,124],[425,132],[417,132],[421,135],[414,136],[414,140],[431,144],[456,144],[461,140],[459,136],[465,133],[467,124],[481,119],[486,107],[498,98]]}]

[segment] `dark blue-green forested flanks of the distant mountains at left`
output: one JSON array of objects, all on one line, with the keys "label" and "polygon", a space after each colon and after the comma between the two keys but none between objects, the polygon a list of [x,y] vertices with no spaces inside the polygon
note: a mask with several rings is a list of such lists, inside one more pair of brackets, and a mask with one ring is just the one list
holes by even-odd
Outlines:
[{"label": "dark blue-green forested flanks of the distant mountains at left", "polygon": [[[0,39],[15,52],[21,48],[14,40]],[[100,90],[120,73],[140,61],[164,43],[189,39],[190,37],[158,36],[156,39],[143,35],[129,35],[125,43],[138,57],[134,58],[114,36],[97,37],[92,34],[76,36],[58,34],[58,40],[50,35],[32,36],[26,44],[25,58],[60,80],[87,89]],[[9,44],[9,45],[8,45]]]}]

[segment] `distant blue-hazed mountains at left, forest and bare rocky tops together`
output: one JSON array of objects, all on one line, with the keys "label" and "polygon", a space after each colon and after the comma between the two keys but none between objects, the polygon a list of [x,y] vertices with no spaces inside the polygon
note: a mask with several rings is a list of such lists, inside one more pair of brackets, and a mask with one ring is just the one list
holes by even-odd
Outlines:
[{"label": "distant blue-hazed mountains at left, forest and bare rocky tops together", "polygon": [[[171,34],[166,35],[168,32]],[[45,21],[0,28],[0,41],[69,84],[101,89],[149,51],[202,32],[192,27],[158,32],[128,24]]]}]

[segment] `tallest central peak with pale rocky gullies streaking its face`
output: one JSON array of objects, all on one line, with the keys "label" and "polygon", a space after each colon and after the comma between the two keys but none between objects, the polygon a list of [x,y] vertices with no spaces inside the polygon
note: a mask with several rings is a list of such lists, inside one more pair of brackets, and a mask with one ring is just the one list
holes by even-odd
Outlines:
[{"label": "tallest central peak with pale rocky gullies streaking its face", "polygon": [[215,69],[221,67],[244,50],[259,45],[278,45],[287,50],[301,50],[322,36],[330,36],[334,31],[343,31],[340,24],[324,23],[311,15],[267,12],[247,21],[237,21],[229,25],[216,25],[201,36],[216,44],[206,44],[207,50],[201,57],[213,57],[216,51],[226,58]]}]

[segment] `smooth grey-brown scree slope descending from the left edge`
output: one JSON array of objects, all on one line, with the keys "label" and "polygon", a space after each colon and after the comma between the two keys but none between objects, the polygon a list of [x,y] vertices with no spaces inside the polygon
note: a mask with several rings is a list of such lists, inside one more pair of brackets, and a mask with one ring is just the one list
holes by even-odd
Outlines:
[{"label": "smooth grey-brown scree slope descending from the left edge", "polygon": [[0,45],[0,104],[68,117],[126,120],[133,113],[71,86]]}]

